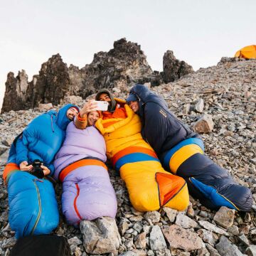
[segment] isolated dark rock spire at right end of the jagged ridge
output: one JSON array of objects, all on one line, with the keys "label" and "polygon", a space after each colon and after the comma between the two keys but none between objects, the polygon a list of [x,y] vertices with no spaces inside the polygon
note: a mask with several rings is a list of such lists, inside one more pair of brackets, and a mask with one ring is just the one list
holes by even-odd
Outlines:
[{"label": "isolated dark rock spire at right end of the jagged ridge", "polygon": [[164,53],[163,59],[163,80],[164,82],[174,82],[183,75],[193,73],[193,68],[183,60],[177,60],[172,50],[167,50]]}]

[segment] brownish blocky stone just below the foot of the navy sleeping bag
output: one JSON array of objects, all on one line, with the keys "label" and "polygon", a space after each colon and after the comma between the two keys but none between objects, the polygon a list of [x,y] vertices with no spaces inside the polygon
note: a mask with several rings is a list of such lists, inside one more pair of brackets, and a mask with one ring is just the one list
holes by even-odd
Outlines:
[{"label": "brownish blocky stone just below the foot of the navy sleeping bag", "polygon": [[213,220],[223,228],[230,228],[234,223],[235,210],[221,206],[218,212],[214,215]]}]

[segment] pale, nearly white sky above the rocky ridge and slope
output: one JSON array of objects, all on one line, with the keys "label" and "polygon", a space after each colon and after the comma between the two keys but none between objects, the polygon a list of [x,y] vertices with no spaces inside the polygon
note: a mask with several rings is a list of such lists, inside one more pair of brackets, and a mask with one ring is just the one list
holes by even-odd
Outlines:
[{"label": "pale, nearly white sky above the rocky ridge and slope", "polygon": [[255,0],[0,0],[0,107],[7,73],[28,81],[56,53],[82,68],[127,38],[153,70],[166,50],[198,68],[256,44]]}]

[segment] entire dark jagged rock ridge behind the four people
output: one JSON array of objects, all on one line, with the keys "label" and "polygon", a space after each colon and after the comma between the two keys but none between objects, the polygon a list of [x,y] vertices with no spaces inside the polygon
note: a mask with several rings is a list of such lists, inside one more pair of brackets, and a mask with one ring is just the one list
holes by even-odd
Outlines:
[{"label": "entire dark jagged rock ridge behind the four people", "polygon": [[9,73],[1,113],[27,110],[40,103],[58,105],[64,97],[85,98],[102,87],[118,92],[128,91],[137,82],[156,86],[163,78],[164,82],[171,82],[191,72],[191,66],[176,60],[170,50],[164,54],[164,72],[152,71],[141,47],[122,38],[114,42],[110,51],[95,53],[92,63],[81,69],[68,67],[56,54],[42,64],[39,75],[34,75],[31,82],[24,70],[16,78]]}]

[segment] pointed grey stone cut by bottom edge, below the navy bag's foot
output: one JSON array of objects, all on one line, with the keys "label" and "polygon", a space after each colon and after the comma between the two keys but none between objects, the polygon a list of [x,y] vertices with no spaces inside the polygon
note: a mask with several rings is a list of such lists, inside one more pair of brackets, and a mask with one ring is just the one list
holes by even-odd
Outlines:
[{"label": "pointed grey stone cut by bottom edge, below the navy bag's foot", "polygon": [[221,256],[242,256],[242,252],[238,250],[224,235],[220,237],[220,242],[216,244],[216,248]]}]

